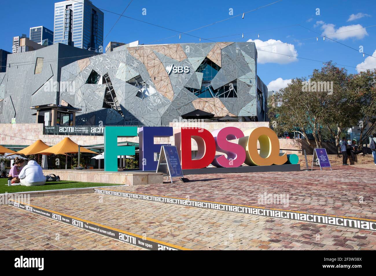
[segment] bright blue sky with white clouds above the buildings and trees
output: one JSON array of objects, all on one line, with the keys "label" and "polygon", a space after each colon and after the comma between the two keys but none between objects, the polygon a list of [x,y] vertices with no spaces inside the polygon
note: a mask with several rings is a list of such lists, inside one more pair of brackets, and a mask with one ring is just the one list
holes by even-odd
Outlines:
[{"label": "bright blue sky with white clouds above the buildings and trees", "polygon": [[[187,32],[230,18],[229,9],[233,9],[233,15],[238,15],[275,1],[277,0],[133,0],[124,15],[179,32]],[[11,51],[13,36],[21,35],[22,33],[28,35],[30,27],[43,25],[52,29],[55,2],[57,1],[4,1],[2,10],[7,12],[2,13],[2,20],[3,23],[8,24],[5,24],[6,26],[3,27],[0,33],[0,48]],[[128,5],[129,0],[92,0],[92,2],[98,8],[121,14]],[[187,5],[187,3],[191,4]],[[143,15],[144,8],[146,9],[146,15]],[[320,9],[319,15],[317,15],[317,9]],[[195,30],[190,32],[190,34],[201,37],[201,42],[207,41],[205,38],[210,39],[210,41],[233,42],[252,39],[259,48],[257,68],[259,77],[265,84],[270,83],[269,89],[278,90],[284,87],[291,78],[308,76],[313,69],[320,68],[322,65],[320,62],[297,59],[294,56],[319,61],[333,60],[338,64],[353,67],[375,68],[376,58],[367,58],[367,55],[363,57],[362,53],[356,51],[362,46],[364,53],[376,57],[376,26],[365,28],[376,25],[375,10],[376,2],[373,0],[365,2],[350,0],[282,0],[265,8],[247,13],[244,19],[241,16],[231,18],[221,23]],[[199,42],[199,38],[183,34],[181,39],[179,39],[179,33],[124,17],[119,20],[109,33],[119,16],[106,11],[104,13],[104,35],[107,35],[104,45],[109,41],[131,42],[136,40],[143,44]],[[297,24],[301,26],[296,26]],[[244,33],[244,38],[241,35],[234,35],[241,33]],[[333,33],[335,34],[333,35]],[[320,35],[327,35],[356,50],[329,39],[323,41]],[[217,38],[220,36],[227,37]],[[316,36],[319,37],[318,41]],[[284,53],[287,56],[268,52]],[[290,59],[288,58],[289,55]],[[345,68],[351,73],[363,70],[358,69],[356,71],[355,68]]]}]

